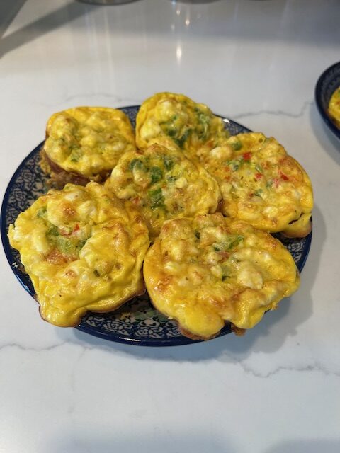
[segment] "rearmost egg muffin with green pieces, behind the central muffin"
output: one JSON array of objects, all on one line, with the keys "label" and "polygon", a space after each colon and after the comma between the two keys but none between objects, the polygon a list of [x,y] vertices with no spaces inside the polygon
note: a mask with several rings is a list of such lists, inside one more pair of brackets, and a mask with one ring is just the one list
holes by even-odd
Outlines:
[{"label": "rearmost egg muffin with green pieces, behind the central muffin", "polygon": [[140,149],[162,144],[189,156],[222,145],[229,137],[220,117],[207,105],[183,94],[157,93],[142,103],[136,118],[136,143]]}]

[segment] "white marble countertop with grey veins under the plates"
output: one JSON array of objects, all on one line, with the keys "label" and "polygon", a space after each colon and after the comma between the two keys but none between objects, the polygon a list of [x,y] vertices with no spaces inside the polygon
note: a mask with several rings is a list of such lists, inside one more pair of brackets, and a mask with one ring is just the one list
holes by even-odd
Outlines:
[{"label": "white marble countertop with grey veins under the plates", "polygon": [[315,197],[300,289],[244,337],[145,348],[50,326],[1,251],[0,452],[339,452],[340,142],[314,103],[339,1],[0,8],[1,197],[52,113],[157,91],[276,137]]}]

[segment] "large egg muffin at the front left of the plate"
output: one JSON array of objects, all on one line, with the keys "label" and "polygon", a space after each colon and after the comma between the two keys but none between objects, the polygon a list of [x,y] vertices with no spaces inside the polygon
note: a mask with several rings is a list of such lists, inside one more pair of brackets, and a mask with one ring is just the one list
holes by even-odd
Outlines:
[{"label": "large egg muffin at the front left of the plate", "polygon": [[98,183],[50,190],[19,214],[8,237],[42,318],[55,326],[76,326],[86,311],[112,311],[145,292],[147,226],[130,202]]}]

